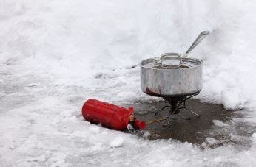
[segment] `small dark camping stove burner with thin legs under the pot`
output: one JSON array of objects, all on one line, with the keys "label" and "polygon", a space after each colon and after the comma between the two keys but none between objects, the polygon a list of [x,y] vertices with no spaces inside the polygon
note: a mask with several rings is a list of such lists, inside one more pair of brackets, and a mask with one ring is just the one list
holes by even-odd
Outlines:
[{"label": "small dark camping stove burner with thin legs under the pot", "polygon": [[[188,96],[165,96],[165,97],[163,97],[164,101],[165,101],[165,106],[162,107],[157,112],[155,112],[155,115],[157,115],[161,110],[164,110],[166,107],[170,108],[168,116],[166,116],[166,119],[168,119],[168,120],[167,120],[167,123],[164,124],[164,126],[168,126],[172,115],[178,114],[180,112],[179,110],[181,110],[181,109],[185,109],[185,110],[189,111],[190,113],[195,114],[195,116],[198,116],[198,118],[199,118],[200,116],[197,113],[193,112],[192,110],[189,110],[186,107],[186,100],[192,98],[193,96],[197,96],[198,94],[199,94],[199,92],[193,93]],[[183,104],[182,107],[180,107],[181,104]]]}]

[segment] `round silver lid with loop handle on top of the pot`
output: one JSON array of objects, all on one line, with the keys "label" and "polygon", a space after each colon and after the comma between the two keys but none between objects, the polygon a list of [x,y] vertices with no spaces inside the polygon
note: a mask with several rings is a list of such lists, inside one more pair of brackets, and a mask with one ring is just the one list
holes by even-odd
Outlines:
[{"label": "round silver lid with loop handle on top of the pot", "polygon": [[153,69],[179,69],[179,68],[193,68],[201,65],[202,60],[192,57],[181,57],[178,53],[166,53],[161,57],[143,60],[141,66],[144,68]]}]

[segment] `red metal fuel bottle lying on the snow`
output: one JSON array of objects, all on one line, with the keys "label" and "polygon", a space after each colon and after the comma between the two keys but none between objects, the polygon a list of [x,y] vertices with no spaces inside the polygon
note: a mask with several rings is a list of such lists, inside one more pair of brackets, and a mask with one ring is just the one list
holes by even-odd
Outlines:
[{"label": "red metal fuel bottle lying on the snow", "polygon": [[144,121],[138,121],[133,116],[133,107],[126,109],[96,99],[89,99],[84,103],[82,115],[87,121],[115,130],[125,130],[128,124],[135,129],[146,127]]}]

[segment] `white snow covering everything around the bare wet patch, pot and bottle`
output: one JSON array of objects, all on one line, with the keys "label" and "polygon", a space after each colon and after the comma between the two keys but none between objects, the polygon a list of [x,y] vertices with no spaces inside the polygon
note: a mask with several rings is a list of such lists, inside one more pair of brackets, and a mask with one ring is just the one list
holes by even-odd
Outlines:
[{"label": "white snow covering everything around the bare wet patch, pot and bottle", "polygon": [[147,141],[81,117],[90,98],[115,104],[152,100],[141,93],[138,66],[129,67],[164,52],[183,53],[208,29],[209,37],[191,53],[204,61],[198,99],[243,108],[245,117],[234,121],[255,126],[256,1],[0,3],[2,165],[256,163],[256,133],[249,149],[201,149],[171,139]]}]

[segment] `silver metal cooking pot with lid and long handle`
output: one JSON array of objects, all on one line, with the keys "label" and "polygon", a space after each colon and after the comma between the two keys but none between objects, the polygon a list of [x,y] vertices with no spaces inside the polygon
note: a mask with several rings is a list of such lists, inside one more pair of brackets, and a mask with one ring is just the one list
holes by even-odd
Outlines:
[{"label": "silver metal cooking pot with lid and long handle", "polygon": [[[201,32],[186,54],[195,48],[207,31]],[[202,90],[202,60],[181,57],[178,53],[166,53],[161,57],[143,60],[141,66],[141,90],[151,96],[188,96]]]}]

